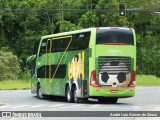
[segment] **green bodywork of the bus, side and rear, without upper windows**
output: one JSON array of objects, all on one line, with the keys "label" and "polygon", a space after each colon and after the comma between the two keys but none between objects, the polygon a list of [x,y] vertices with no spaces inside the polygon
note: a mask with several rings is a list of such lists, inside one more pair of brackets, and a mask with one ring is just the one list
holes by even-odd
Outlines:
[{"label": "green bodywork of the bus, side and rear, without upper windows", "polygon": [[[125,29],[128,30],[128,28]],[[53,46],[49,45],[49,42],[52,43],[54,40],[49,41],[49,39],[55,39],[61,36],[68,35],[71,35],[72,39],[72,34],[81,34],[83,32],[91,32],[89,46],[87,47],[87,49],[62,52],[51,51],[51,48]],[[79,98],[125,98],[134,96],[135,87],[130,87],[130,83],[124,84],[123,86],[123,84],[119,85],[118,83],[114,82],[102,83],[102,81],[100,81],[100,79],[102,78],[102,72],[100,71],[101,69],[105,69],[105,67],[108,66],[112,60],[117,61],[118,59],[122,59],[122,62],[124,62],[124,58],[131,61],[131,67],[130,69],[128,69],[127,72],[129,79],[132,79],[132,72],[136,71],[136,38],[135,31],[133,29],[132,32],[134,38],[134,45],[96,44],[96,28],[43,36],[38,48],[35,74],[31,78],[31,92],[33,94],[37,93],[37,85],[40,84],[42,88],[42,94],[44,95],[65,96],[66,84],[69,84],[70,88],[72,88],[74,84],[78,89],[77,97]],[[41,46],[42,44],[44,44],[44,40],[47,40],[46,46],[49,45],[49,51],[46,47],[46,52],[41,54]],[[100,67],[99,61],[103,59],[106,61],[110,61],[110,63],[103,63],[104,67]],[[123,65],[125,64],[125,67],[127,68],[127,63],[124,63]],[[59,67],[60,71],[57,69],[58,73],[54,74],[57,66]],[[113,68],[114,65],[112,65],[112,71]],[[91,78],[93,77],[91,73],[93,71],[95,71],[96,73],[96,81],[98,86],[93,86],[91,84]]]}]

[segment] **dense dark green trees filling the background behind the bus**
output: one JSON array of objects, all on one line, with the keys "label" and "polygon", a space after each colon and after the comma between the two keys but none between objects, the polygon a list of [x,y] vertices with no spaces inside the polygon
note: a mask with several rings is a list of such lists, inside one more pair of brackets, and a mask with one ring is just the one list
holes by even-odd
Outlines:
[{"label": "dense dark green trees filling the background behind the bus", "polygon": [[[159,11],[160,8],[159,0],[1,0],[1,51],[8,56],[14,53],[18,58],[11,58],[15,61],[21,59],[20,65],[24,73],[27,72],[25,61],[32,54],[34,42],[40,40],[43,35],[88,27],[133,27],[137,34],[137,72],[160,76],[160,16],[152,12],[127,12],[125,17],[120,17],[120,1],[126,4],[127,9]],[[62,9],[87,9],[88,12],[67,12]],[[117,12],[94,12],[100,9],[112,9]],[[15,64],[18,65],[19,62]],[[19,67],[17,69],[14,78],[17,78],[21,71]],[[12,74],[10,71],[8,73]],[[11,77],[8,73],[3,75]],[[25,75],[20,77],[22,76]]]}]

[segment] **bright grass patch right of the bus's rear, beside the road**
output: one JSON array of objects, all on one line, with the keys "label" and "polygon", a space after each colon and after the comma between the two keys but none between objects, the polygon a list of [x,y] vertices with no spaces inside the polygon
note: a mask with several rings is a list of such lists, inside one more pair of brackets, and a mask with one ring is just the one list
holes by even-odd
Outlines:
[{"label": "bright grass patch right of the bus's rear, beside the road", "polygon": [[160,78],[153,75],[137,75],[137,86],[160,86]]}]

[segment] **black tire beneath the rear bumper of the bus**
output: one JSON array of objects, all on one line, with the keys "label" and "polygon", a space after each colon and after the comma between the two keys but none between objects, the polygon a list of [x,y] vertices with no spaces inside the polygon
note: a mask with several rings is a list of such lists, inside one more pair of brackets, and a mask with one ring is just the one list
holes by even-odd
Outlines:
[{"label": "black tire beneath the rear bumper of the bus", "polygon": [[99,103],[107,103],[107,104],[116,104],[118,101],[118,98],[99,98]]}]

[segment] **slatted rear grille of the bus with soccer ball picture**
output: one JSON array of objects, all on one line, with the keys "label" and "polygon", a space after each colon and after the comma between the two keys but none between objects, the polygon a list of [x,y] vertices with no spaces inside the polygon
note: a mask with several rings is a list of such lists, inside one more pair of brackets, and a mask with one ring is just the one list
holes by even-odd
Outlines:
[{"label": "slatted rear grille of the bus with soccer ball picture", "polygon": [[[120,86],[129,84],[133,59],[131,57],[98,57],[99,81],[101,85]],[[124,85],[124,84],[123,84]]]}]

